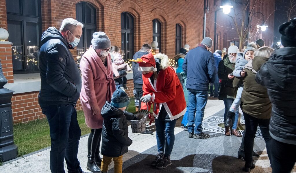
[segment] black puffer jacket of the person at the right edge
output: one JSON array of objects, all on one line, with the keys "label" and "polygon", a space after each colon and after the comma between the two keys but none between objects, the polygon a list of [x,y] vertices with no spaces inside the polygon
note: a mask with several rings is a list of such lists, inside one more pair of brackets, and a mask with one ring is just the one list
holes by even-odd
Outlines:
[{"label": "black puffer jacket of the person at the right edge", "polygon": [[272,103],[269,132],[277,141],[296,144],[296,47],[274,51],[256,75]]}]

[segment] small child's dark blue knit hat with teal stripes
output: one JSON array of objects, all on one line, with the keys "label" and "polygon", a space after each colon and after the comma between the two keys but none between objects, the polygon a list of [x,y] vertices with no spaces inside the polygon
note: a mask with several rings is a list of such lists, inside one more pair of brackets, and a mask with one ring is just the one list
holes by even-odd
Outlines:
[{"label": "small child's dark blue knit hat with teal stripes", "polygon": [[111,97],[111,104],[116,108],[122,108],[129,105],[130,98],[122,89],[116,89]]}]

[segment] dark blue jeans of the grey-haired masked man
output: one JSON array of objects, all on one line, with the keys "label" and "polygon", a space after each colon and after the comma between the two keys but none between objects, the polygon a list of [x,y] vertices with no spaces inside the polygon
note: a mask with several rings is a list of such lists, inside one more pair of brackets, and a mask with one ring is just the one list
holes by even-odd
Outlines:
[{"label": "dark blue jeans of the grey-haired masked man", "polygon": [[40,105],[40,107],[49,123],[51,138],[49,166],[51,172],[65,173],[64,160],[66,159],[69,172],[81,173],[82,170],[77,159],[81,130],[77,121],[75,105]]}]

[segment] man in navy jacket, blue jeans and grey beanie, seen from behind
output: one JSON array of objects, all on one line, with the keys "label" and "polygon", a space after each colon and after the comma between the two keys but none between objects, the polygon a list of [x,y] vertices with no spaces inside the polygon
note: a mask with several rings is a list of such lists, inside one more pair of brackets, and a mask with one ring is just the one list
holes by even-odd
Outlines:
[{"label": "man in navy jacket, blue jeans and grey beanie, seen from behind", "polygon": [[182,66],[187,73],[189,138],[210,137],[209,134],[202,132],[202,119],[209,96],[207,92],[209,83],[215,81],[216,74],[213,53],[210,52],[212,45],[212,39],[205,37],[198,47],[187,53]]}]

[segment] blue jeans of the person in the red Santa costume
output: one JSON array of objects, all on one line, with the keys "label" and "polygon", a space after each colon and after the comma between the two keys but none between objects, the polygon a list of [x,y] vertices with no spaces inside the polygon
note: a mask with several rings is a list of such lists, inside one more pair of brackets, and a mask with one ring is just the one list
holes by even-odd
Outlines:
[{"label": "blue jeans of the person in the red Santa costume", "polygon": [[164,153],[165,157],[170,156],[173,150],[176,121],[168,121],[161,118],[155,119],[158,153]]}]

